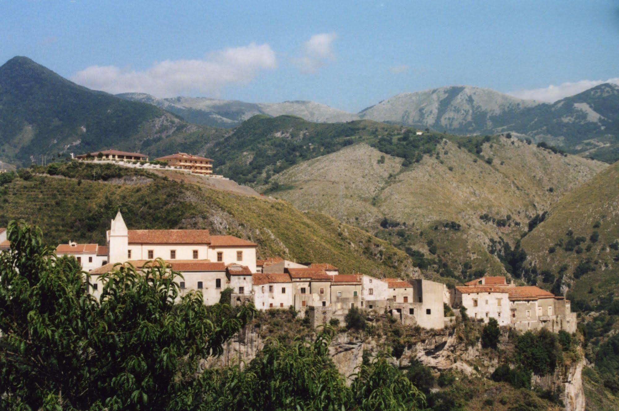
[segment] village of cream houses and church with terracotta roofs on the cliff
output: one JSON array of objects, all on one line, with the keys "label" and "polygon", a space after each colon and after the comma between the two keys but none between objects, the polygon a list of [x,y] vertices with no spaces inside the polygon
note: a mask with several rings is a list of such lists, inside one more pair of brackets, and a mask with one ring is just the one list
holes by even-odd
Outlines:
[{"label": "village of cream houses and church with terracotta roofs on the cliff", "polygon": [[[57,256],[72,256],[90,276],[90,292],[99,296],[103,276],[116,264],[137,269],[163,259],[180,272],[181,295],[202,292],[204,303],[218,303],[232,288],[231,303],[253,302],[257,309],[292,307],[318,326],[331,318],[344,320],[350,308],[389,313],[407,325],[441,329],[454,317],[444,304],[464,306],[471,318],[521,331],[546,328],[576,331],[576,313],[563,296],[542,288],[509,284],[505,277],[482,277],[447,290],[425,279],[378,279],[360,273],[343,274],[328,262],[298,263],[281,257],[256,259],[258,244],[209,230],[129,230],[121,212],[111,220],[106,244],[59,244]],[[0,229],[0,249],[9,249],[6,229]]]}]

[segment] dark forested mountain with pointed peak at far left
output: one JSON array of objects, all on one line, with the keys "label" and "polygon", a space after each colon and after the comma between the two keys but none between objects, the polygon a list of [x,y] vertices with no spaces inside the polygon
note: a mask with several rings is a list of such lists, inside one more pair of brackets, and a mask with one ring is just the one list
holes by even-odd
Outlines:
[{"label": "dark forested mountain with pointed peak at far left", "polygon": [[[217,132],[153,105],[86,89],[25,57],[0,67],[0,158],[27,165],[71,152],[115,148],[163,154],[168,139]],[[167,152],[166,154],[169,154]]]}]

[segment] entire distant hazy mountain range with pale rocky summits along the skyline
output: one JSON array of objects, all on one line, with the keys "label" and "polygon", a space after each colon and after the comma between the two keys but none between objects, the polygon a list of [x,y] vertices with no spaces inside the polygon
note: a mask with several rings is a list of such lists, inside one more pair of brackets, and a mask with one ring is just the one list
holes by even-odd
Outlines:
[{"label": "entire distant hazy mountain range with pale rocky summits along the skyline", "polygon": [[601,84],[555,103],[522,100],[480,87],[441,87],[401,93],[359,113],[309,101],[245,103],[144,93],[119,97],[154,104],[209,126],[235,127],[254,115],[295,115],[316,123],[370,119],[461,135],[513,132],[602,161],[619,160],[619,86],[614,84]]}]

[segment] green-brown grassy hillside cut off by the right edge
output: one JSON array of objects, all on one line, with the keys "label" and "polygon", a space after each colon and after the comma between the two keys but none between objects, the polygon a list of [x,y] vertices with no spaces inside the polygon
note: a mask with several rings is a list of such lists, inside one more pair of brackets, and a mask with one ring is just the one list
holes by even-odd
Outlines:
[{"label": "green-brown grassy hillside cut off by the right edge", "polygon": [[[563,264],[568,264],[566,285],[571,283],[574,267],[584,259],[591,259],[595,270],[576,279],[570,287],[572,295],[581,300],[590,301],[616,292],[619,287],[619,262],[614,261],[619,251],[609,248],[619,240],[618,181],[619,163],[615,163],[558,201],[548,218],[522,241],[539,269],[556,273]],[[597,222],[600,227],[594,228]],[[581,244],[582,253],[565,251],[561,246],[555,246],[555,253],[548,253],[558,241],[566,243],[568,230],[573,230],[573,237],[586,237],[587,241]],[[599,240],[591,243],[589,237],[594,231],[599,233]],[[591,251],[586,251],[589,244]],[[590,287],[593,293],[589,293]]]}]

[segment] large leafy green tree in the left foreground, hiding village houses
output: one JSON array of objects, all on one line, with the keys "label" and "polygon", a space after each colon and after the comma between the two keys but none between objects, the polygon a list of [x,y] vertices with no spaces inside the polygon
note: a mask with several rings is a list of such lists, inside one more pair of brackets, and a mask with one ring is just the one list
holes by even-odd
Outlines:
[{"label": "large leafy green tree in the left foreground, hiding village houses", "polygon": [[77,261],[56,258],[41,231],[9,222],[0,254],[0,409],[171,409],[196,394],[199,361],[222,353],[253,306],[178,298],[163,261],[118,265],[100,300]]}]

